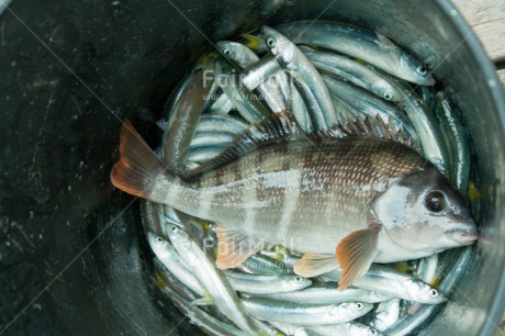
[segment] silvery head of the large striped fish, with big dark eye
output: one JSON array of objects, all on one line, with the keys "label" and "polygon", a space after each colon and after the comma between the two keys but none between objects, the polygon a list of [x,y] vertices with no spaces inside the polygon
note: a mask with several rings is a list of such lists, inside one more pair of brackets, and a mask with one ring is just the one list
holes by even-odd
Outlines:
[{"label": "silvery head of the large striped fish, with big dark eye", "polygon": [[419,255],[472,245],[478,239],[463,198],[433,166],[390,182],[371,213],[394,244]]}]

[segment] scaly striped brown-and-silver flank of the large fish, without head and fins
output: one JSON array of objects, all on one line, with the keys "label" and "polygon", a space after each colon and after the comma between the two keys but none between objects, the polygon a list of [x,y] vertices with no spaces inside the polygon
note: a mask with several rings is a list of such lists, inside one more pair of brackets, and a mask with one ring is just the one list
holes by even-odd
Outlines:
[{"label": "scaly striped brown-and-silver flank of the large fish, without head and fins", "polygon": [[[335,242],[368,227],[370,202],[390,179],[424,166],[414,152],[386,141],[284,142],[259,147],[192,181],[181,180],[173,206],[251,237],[301,251],[333,253]],[[288,201],[293,192],[298,200]],[[307,234],[304,222],[311,219],[322,220],[322,234]],[[266,235],[272,225],[276,232]],[[324,243],[314,248],[322,235]],[[304,242],[294,246],[299,236]]]}]

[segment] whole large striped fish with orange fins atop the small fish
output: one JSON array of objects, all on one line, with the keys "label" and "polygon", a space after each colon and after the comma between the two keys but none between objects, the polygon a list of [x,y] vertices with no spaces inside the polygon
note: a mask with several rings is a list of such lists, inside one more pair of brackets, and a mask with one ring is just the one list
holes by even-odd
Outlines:
[{"label": "whole large striped fish with orange fins atop the small fish", "polygon": [[307,138],[288,113],[251,126],[184,178],[168,172],[128,122],[120,154],[115,187],[222,223],[223,269],[281,244],[305,254],[295,272],[318,275],[327,271],[319,256],[336,253],[344,290],[372,261],[422,258],[478,238],[461,195],[411,148],[367,136]]}]

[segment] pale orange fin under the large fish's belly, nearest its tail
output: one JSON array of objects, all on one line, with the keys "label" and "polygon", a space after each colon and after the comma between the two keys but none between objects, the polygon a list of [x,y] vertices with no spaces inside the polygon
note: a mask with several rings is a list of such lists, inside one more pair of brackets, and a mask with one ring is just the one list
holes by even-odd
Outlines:
[{"label": "pale orange fin under the large fish's belly, nearest its tail", "polygon": [[216,235],[218,250],[215,262],[220,269],[237,267],[268,246],[265,242],[250,238],[234,228],[226,228],[222,225],[217,226]]}]

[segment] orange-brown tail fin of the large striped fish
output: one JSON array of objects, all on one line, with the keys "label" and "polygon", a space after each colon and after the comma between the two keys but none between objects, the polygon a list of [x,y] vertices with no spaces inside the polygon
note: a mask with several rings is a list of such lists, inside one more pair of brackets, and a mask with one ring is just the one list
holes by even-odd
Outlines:
[{"label": "orange-brown tail fin of the large striped fish", "polygon": [[111,172],[112,184],[124,192],[148,198],[157,177],[164,172],[164,163],[125,121],[121,130],[120,160]]}]

